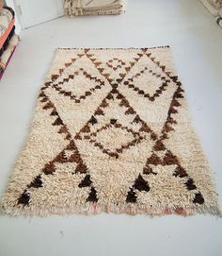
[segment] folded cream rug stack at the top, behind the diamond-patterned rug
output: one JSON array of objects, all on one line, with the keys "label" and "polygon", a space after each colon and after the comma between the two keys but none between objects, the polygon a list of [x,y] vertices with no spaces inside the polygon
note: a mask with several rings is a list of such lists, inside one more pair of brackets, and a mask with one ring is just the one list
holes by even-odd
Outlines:
[{"label": "folded cream rug stack at the top, behind the diamond-patterned rug", "polygon": [[126,0],[64,0],[66,15],[105,15],[124,12]]}]

